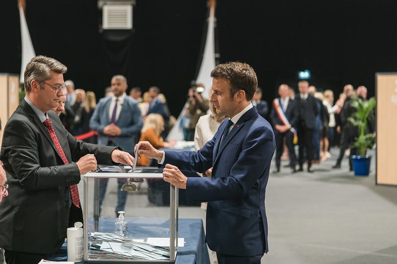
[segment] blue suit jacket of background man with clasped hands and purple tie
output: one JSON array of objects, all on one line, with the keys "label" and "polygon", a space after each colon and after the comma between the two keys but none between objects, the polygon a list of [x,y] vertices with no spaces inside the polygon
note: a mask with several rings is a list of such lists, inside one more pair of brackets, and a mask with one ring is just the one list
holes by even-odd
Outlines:
[{"label": "blue suit jacket of background man with clasped hands and purple tie", "polygon": [[[89,127],[97,131],[98,144],[106,146],[109,137],[103,134],[103,128],[110,124],[109,107],[111,97],[105,97],[99,100],[91,119],[89,120]],[[117,146],[123,151],[134,154],[135,134],[140,132],[143,126],[141,110],[138,102],[129,96],[124,99],[123,106],[116,124],[121,129],[121,135],[114,137],[113,140]]]}]

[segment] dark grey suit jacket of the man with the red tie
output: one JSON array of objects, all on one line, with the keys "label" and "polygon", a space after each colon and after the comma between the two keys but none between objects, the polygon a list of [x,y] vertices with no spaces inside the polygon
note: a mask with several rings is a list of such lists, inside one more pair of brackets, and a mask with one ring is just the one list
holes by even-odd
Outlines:
[{"label": "dark grey suit jacket of the man with the red tie", "polygon": [[110,164],[115,147],[84,143],[73,137],[54,111],[48,111],[69,164],[64,164],[46,127],[22,100],[5,125],[0,159],[7,173],[8,197],[0,205],[0,247],[52,254],[66,237],[70,185],[80,181],[74,161],[94,154]]}]

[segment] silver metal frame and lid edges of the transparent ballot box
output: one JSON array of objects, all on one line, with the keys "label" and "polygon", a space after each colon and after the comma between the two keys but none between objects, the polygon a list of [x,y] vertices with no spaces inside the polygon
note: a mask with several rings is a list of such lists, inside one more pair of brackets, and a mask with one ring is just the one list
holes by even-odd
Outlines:
[{"label": "silver metal frame and lid edges of the transparent ballot box", "polygon": [[[81,175],[84,183],[83,195],[83,260],[87,263],[174,263],[177,248],[178,248],[178,188],[170,184],[170,205],[169,205],[169,260],[134,260],[134,259],[94,259],[88,256],[88,207],[93,206],[93,231],[99,230],[99,180],[101,178],[126,178],[132,179],[147,179],[147,180],[162,180],[162,169],[157,167],[136,167],[132,171],[129,167],[119,167],[120,171],[102,171],[101,167],[109,167],[106,165],[99,165],[97,171],[91,171]],[[89,183],[88,180],[93,178],[93,201],[91,203],[89,196]],[[92,185],[92,183],[91,183]]]}]

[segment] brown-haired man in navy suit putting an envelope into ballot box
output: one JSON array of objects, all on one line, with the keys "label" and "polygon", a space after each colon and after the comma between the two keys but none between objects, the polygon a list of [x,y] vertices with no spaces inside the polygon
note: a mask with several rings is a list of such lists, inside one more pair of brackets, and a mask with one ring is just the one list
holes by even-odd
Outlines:
[{"label": "brown-haired man in navy suit putting an envelope into ballot box", "polygon": [[[139,154],[164,166],[164,180],[186,189],[188,202],[208,202],[206,241],[220,264],[260,264],[267,246],[265,190],[275,150],[271,125],[252,106],[257,78],[248,64],[219,64],[210,102],[227,118],[198,152],[159,151],[139,142]],[[181,170],[212,177],[186,177]]]}]

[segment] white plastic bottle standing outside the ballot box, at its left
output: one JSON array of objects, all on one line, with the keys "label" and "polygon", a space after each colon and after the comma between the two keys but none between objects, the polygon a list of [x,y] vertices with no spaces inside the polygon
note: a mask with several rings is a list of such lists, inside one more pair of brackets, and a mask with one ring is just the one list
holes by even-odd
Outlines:
[{"label": "white plastic bottle standing outside the ballot box, at its left", "polygon": [[76,222],[75,227],[67,229],[67,247],[68,247],[68,261],[82,262],[83,246],[82,246],[82,223]]}]

